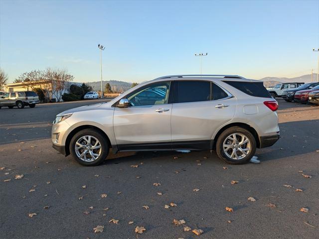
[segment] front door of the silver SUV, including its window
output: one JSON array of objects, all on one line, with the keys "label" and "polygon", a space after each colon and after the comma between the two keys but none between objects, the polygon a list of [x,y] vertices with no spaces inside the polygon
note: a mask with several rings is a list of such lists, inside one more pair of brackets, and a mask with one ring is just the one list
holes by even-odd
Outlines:
[{"label": "front door of the silver SUV, including its window", "polygon": [[119,150],[171,149],[170,82],[143,86],[123,97],[127,108],[115,107],[114,134]]}]

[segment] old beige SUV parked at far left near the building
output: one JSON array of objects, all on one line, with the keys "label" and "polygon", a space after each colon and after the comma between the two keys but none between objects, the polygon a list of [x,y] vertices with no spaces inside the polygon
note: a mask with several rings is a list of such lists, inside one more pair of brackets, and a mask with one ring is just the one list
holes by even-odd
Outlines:
[{"label": "old beige SUV parked at far left near the building", "polygon": [[29,106],[34,108],[36,104],[39,104],[39,97],[33,91],[17,91],[5,93],[0,97],[0,109],[3,106],[6,106],[10,109],[17,107],[23,109],[24,106]]}]

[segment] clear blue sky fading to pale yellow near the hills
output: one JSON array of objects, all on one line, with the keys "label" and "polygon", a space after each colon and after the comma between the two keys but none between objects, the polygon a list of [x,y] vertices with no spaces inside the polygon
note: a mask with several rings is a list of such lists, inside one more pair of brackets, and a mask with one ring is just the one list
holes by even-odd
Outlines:
[{"label": "clear blue sky fading to pale yellow near the hills", "polygon": [[67,68],[76,82],[163,75],[260,79],[317,72],[319,1],[0,0],[0,67],[9,82]]}]

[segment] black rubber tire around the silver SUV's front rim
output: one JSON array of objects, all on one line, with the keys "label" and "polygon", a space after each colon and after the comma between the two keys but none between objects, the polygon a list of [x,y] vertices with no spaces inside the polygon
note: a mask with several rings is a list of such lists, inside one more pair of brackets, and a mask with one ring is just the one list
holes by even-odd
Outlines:
[{"label": "black rubber tire around the silver SUV's front rim", "polygon": [[[80,159],[76,152],[75,152],[75,144],[77,142],[78,139],[80,139],[83,136],[93,136],[95,138],[97,138],[101,144],[101,153],[100,156],[93,161],[84,161],[82,159]],[[70,142],[70,154],[71,156],[80,164],[84,165],[84,166],[96,166],[99,165],[101,163],[104,162],[104,160],[106,159],[106,157],[109,154],[109,149],[110,146],[108,144],[107,139],[105,138],[104,135],[102,135],[98,130],[96,129],[83,129],[79,132],[77,132],[71,139]]]}]

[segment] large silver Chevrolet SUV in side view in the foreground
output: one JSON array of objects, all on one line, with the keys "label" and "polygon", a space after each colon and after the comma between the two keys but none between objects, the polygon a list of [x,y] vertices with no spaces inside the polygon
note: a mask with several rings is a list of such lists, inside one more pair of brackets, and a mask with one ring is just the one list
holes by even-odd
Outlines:
[{"label": "large silver Chevrolet SUV in side view in the foreground", "polygon": [[56,116],[53,148],[83,165],[118,151],[213,150],[243,164],[279,139],[275,101],[263,82],[234,75],[164,76],[108,103]]}]

